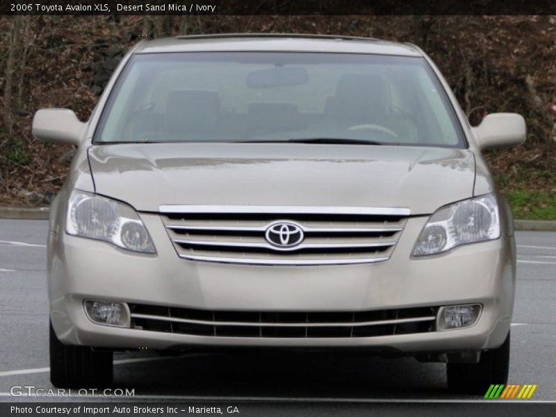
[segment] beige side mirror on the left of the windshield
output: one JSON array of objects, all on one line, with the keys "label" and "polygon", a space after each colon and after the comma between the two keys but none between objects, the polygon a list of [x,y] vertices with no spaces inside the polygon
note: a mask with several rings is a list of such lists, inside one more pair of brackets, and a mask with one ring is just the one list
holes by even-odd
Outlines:
[{"label": "beige side mirror on the left of the windshield", "polygon": [[46,142],[79,146],[85,126],[67,108],[42,108],[33,117],[33,136]]}]

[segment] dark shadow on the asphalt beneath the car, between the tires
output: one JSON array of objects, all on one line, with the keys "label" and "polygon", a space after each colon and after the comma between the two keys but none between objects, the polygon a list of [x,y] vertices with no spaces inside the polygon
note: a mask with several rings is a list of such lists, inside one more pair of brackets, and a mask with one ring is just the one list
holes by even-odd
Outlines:
[{"label": "dark shadow on the asphalt beneath the car, between the tires", "polygon": [[[115,357],[121,358],[121,354]],[[122,363],[115,366],[114,375],[114,386],[133,388],[136,395],[284,400],[455,398],[446,386],[443,363],[347,353],[193,353]]]}]

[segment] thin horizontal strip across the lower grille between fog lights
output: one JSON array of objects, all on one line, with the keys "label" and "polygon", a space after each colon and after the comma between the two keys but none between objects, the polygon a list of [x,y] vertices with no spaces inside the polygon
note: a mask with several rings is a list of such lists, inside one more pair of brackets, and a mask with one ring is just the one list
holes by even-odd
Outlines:
[{"label": "thin horizontal strip across the lower grille between fog lights", "polygon": [[398,318],[394,320],[375,320],[370,322],[300,322],[300,323],[270,323],[270,322],[233,322],[233,321],[206,321],[189,318],[174,318],[166,316],[151,316],[150,314],[131,314],[131,318],[143,318],[147,320],[161,320],[167,322],[189,323],[193,325],[206,326],[244,326],[244,327],[362,327],[379,325],[397,325],[401,323],[423,322],[436,320],[436,316],[424,316],[415,318]]}]

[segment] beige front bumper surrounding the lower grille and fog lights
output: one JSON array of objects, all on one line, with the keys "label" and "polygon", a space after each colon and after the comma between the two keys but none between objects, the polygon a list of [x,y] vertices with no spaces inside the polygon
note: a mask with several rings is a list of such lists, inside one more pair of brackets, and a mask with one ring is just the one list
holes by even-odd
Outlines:
[{"label": "beige front bumper surrounding the lower grille and fog lights", "polygon": [[[498,347],[511,322],[515,243],[502,236],[411,258],[427,218],[410,218],[388,261],[363,265],[256,266],[180,259],[158,215],[141,215],[158,254],[49,234],[51,320],[60,341],[95,347],[366,347],[404,354]],[[96,325],[83,300],[216,311],[373,311],[482,304],[472,327],[361,338],[193,336]]]}]

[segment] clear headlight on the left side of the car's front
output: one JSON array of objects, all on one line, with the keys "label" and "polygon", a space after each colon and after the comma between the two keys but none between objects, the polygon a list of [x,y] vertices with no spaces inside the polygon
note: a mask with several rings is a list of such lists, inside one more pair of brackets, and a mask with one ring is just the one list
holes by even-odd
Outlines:
[{"label": "clear headlight on the left side of the car's front", "polygon": [[70,196],[66,232],[105,240],[127,250],[156,253],[145,224],[131,206],[79,190]]}]

